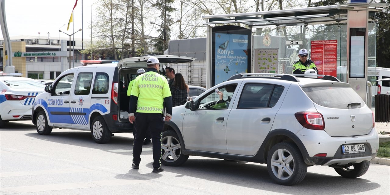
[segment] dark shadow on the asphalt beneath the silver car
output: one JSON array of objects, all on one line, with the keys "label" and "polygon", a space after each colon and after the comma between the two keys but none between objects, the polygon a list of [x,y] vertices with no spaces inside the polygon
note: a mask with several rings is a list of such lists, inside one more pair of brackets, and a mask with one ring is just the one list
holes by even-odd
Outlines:
[{"label": "dark shadow on the asphalt beneath the silver car", "polygon": [[[247,188],[296,195],[322,194],[324,192],[327,195],[354,194],[380,187],[378,183],[373,183],[367,179],[347,179],[341,176],[311,172],[307,173],[301,183],[294,186],[282,186],[274,183],[269,177],[266,164],[259,165],[219,159],[191,159],[191,156],[181,167],[164,166],[164,169],[168,172],[180,174],[176,177],[198,177]],[[310,167],[308,167],[308,171],[310,171]],[[334,170],[329,168],[329,171]],[[305,190],[302,191],[301,189]]]}]

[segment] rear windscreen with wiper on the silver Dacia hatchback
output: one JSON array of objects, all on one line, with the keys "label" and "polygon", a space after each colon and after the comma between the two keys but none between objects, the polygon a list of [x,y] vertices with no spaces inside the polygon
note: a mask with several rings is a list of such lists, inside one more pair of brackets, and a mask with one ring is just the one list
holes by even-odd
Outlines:
[{"label": "rear windscreen with wiper on the silver Dacia hatchback", "polygon": [[328,108],[348,109],[360,108],[364,105],[363,99],[351,87],[302,87],[302,89],[316,104]]}]

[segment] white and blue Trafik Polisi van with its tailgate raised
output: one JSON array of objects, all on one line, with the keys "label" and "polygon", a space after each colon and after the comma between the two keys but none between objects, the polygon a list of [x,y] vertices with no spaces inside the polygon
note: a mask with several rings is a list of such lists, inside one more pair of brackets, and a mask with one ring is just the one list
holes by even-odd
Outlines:
[{"label": "white and blue Trafik Polisi van with its tailgate raised", "polygon": [[[64,71],[35,97],[32,122],[37,132],[49,135],[53,128],[87,130],[99,144],[108,142],[112,133],[132,132],[126,91],[137,70],[146,69],[146,62],[152,56],[160,64],[195,60],[172,55],[147,55],[121,61],[82,60],[83,66]],[[160,72],[165,73],[163,66]]]}]

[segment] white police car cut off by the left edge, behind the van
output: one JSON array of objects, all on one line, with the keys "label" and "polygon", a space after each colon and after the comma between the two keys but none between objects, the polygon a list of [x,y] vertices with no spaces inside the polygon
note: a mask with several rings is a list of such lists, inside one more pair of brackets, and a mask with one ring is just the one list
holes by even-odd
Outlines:
[{"label": "white police car cut off by the left edge, behind the van", "polygon": [[0,72],[0,127],[8,121],[31,120],[35,96],[45,85],[21,73]]}]

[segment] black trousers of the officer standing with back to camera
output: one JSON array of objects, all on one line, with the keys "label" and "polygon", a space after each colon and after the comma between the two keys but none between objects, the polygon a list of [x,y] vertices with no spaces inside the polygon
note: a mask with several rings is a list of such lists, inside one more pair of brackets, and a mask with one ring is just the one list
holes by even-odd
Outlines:
[{"label": "black trousers of the officer standing with back to camera", "polygon": [[153,145],[153,168],[161,166],[161,132],[164,119],[161,113],[137,113],[135,117],[135,139],[133,144],[133,163],[141,162],[142,145],[147,131],[150,131]]}]

